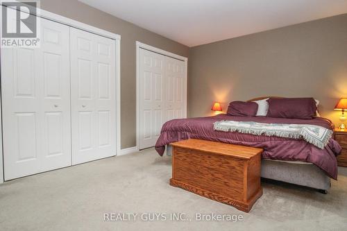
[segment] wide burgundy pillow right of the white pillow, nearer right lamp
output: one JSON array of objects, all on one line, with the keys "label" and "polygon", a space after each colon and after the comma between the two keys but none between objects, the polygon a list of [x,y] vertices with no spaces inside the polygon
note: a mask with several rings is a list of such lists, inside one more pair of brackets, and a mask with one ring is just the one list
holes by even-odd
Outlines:
[{"label": "wide burgundy pillow right of the white pillow, nearer right lamp", "polygon": [[312,119],[317,110],[313,98],[270,98],[266,117],[287,119]]}]

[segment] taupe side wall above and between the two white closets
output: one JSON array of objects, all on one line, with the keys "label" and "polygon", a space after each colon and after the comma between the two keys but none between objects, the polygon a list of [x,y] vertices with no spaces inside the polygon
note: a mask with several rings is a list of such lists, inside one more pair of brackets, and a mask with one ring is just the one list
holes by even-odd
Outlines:
[{"label": "taupe side wall above and between the two white closets", "polygon": [[121,148],[136,145],[135,41],[188,57],[189,48],[77,0],[41,0],[41,8],[121,35]]}]

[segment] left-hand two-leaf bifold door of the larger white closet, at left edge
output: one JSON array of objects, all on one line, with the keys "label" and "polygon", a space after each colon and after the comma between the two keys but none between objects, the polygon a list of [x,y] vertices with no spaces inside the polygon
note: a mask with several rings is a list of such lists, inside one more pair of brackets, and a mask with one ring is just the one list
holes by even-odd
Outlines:
[{"label": "left-hand two-leaf bifold door of the larger white closet, at left edge", "polygon": [[1,49],[5,180],[71,164],[69,27],[40,31],[40,48]]}]

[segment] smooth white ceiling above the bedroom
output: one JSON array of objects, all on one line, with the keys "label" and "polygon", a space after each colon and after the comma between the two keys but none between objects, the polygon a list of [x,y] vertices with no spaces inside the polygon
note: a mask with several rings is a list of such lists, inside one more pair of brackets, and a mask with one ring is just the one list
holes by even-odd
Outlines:
[{"label": "smooth white ceiling above the bedroom", "polygon": [[187,46],[347,12],[347,0],[79,0]]}]

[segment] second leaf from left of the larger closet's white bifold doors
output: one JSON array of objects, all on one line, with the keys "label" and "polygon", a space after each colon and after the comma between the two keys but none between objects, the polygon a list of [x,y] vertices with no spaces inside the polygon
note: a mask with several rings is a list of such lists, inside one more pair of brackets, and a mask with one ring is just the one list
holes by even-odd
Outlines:
[{"label": "second leaf from left of the larger closet's white bifold doors", "polygon": [[49,171],[71,165],[69,26],[40,20],[41,171]]}]

